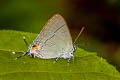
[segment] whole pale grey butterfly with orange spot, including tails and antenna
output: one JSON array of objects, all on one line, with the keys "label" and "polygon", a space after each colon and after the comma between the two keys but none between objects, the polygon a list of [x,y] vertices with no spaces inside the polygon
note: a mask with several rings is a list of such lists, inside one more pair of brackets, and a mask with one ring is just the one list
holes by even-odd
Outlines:
[{"label": "whole pale grey butterfly with orange spot, including tails and antenna", "polygon": [[[76,40],[84,30],[84,27],[81,29]],[[74,59],[74,51],[76,50],[75,42],[72,42],[72,37],[68,29],[65,19],[60,14],[55,14],[51,17],[46,25],[41,30],[40,34],[36,37],[31,45],[28,46],[28,43],[24,37],[24,41],[28,46],[28,51],[20,51],[31,57],[38,57],[41,59],[52,59],[56,58],[56,61],[59,58]],[[13,52],[15,53],[15,52]],[[19,56],[17,58],[20,58]]]}]

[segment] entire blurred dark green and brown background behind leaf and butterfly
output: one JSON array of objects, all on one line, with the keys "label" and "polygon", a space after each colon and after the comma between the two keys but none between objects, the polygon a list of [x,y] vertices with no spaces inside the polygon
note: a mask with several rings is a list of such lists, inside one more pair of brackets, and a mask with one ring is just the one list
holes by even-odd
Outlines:
[{"label": "entire blurred dark green and brown background behind leaf and butterfly", "polygon": [[0,0],[0,29],[39,33],[56,13],[68,23],[73,41],[97,51],[120,70],[120,0]]}]

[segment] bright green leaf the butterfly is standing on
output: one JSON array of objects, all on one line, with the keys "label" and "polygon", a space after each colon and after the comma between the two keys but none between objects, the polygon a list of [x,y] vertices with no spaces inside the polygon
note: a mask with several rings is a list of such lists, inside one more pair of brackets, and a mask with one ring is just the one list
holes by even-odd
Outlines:
[{"label": "bright green leaf the butterfly is standing on", "polygon": [[19,31],[0,31],[0,80],[120,80],[120,73],[106,60],[96,56],[95,52],[87,52],[77,48],[74,63],[71,60],[44,60],[25,56],[15,60],[21,54],[12,51],[27,51],[22,37],[29,43],[37,34]]}]

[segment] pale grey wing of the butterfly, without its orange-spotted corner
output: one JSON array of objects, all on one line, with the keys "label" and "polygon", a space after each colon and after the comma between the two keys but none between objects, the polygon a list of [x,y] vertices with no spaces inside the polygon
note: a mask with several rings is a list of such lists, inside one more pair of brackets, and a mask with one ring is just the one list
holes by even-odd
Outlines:
[{"label": "pale grey wing of the butterfly, without its orange-spotted corner", "polygon": [[56,14],[44,26],[34,43],[45,59],[59,57],[73,48],[71,35],[64,18]]}]

